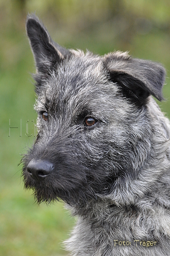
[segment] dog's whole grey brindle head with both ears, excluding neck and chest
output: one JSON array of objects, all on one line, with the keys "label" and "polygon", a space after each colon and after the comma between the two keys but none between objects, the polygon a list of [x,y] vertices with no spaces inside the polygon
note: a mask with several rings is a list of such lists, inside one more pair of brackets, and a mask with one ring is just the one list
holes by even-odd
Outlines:
[{"label": "dog's whole grey brindle head with both ears, excluding neck and chest", "polygon": [[37,66],[38,136],[23,157],[25,186],[38,203],[82,205],[113,191],[127,198],[127,184],[140,179],[152,154],[148,102],[163,99],[163,67],[119,51],[99,57],[64,49],[35,16],[26,28]]}]

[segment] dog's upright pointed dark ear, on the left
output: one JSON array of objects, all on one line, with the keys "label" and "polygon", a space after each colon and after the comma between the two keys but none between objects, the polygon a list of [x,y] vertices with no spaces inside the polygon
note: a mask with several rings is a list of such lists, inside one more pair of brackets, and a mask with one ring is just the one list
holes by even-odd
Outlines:
[{"label": "dog's upright pointed dark ear, on the left", "polygon": [[38,72],[48,73],[54,65],[70,54],[69,50],[52,41],[48,31],[35,15],[27,16],[26,30]]}]

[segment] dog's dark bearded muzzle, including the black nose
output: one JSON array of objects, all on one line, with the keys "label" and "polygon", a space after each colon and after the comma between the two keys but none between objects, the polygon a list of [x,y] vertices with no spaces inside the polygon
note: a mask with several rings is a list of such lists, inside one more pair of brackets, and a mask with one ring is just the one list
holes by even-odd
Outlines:
[{"label": "dog's dark bearded muzzle, including the black nose", "polygon": [[[104,175],[103,167],[86,166],[71,155],[58,154],[51,157],[48,154],[46,158],[42,158],[35,157],[31,150],[30,154],[23,157],[22,163],[24,186],[33,190],[38,204],[62,199],[69,205],[84,205],[89,200],[96,199],[96,194],[104,195],[110,191],[110,177],[108,174]],[[114,181],[109,184],[112,182]]]}]

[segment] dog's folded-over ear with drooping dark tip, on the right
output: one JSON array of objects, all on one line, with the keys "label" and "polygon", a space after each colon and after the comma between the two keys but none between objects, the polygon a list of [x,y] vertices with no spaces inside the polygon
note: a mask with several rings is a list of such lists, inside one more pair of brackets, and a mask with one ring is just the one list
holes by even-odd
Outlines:
[{"label": "dog's folded-over ear with drooping dark tip, on the right", "polygon": [[110,79],[118,83],[126,97],[141,103],[149,95],[163,100],[165,69],[159,63],[133,59],[127,53],[116,51],[104,56],[104,65]]}]

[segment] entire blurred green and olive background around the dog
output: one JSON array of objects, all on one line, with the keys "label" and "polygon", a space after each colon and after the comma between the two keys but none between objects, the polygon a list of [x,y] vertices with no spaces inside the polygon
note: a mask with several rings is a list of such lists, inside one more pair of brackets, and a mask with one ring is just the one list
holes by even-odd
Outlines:
[{"label": "entire blurred green and olive background around the dog", "polygon": [[170,117],[170,1],[0,0],[0,255],[67,255],[61,244],[74,219],[62,202],[37,206],[23,190],[18,166],[36,135],[27,13],[36,13],[62,46],[96,54],[129,51],[163,63],[167,102],[160,106]]}]

